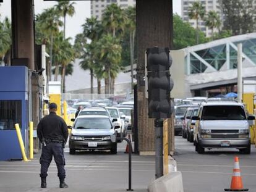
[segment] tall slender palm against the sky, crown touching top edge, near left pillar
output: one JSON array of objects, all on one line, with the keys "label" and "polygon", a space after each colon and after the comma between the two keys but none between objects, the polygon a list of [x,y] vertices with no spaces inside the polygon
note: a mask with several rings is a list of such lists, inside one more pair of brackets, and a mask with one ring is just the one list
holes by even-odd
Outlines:
[{"label": "tall slender palm against the sky, crown touching top edge, near left pillar", "polygon": [[58,5],[56,5],[56,9],[64,17],[64,38],[66,38],[66,16],[72,17],[75,14],[74,4],[75,2],[59,1]]}]

